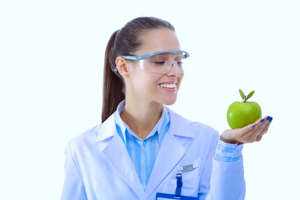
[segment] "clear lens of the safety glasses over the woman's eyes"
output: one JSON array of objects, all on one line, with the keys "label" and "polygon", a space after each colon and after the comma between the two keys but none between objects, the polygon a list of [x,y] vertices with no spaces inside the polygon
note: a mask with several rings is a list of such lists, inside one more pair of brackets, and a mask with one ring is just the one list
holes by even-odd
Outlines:
[{"label": "clear lens of the safety glasses over the woman's eyes", "polygon": [[139,60],[139,67],[153,73],[165,74],[168,73],[172,67],[177,67],[180,73],[184,73],[186,67],[185,53],[161,53],[151,57]]}]

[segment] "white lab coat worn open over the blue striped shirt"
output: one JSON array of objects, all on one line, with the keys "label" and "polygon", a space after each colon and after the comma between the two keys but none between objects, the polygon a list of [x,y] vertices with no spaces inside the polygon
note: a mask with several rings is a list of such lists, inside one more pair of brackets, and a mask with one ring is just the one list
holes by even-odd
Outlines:
[{"label": "white lab coat worn open over the blue striped shirt", "polygon": [[[170,126],[145,190],[116,132],[114,112],[102,124],[68,142],[61,200],[155,199],[157,192],[175,193],[176,173],[182,173],[182,195],[206,200],[244,199],[243,158],[235,162],[214,160],[218,132],[166,108]],[[197,167],[179,170],[189,164]]]}]

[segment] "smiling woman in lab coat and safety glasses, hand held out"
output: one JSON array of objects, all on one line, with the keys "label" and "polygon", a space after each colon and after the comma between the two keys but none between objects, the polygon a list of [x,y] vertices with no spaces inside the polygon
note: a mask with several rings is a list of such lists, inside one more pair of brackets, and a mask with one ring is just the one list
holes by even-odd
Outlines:
[{"label": "smiling woman in lab coat and safety glasses, hand held out", "polygon": [[165,106],[176,101],[188,56],[174,27],[155,17],[111,35],[102,123],[68,142],[61,199],[244,199],[243,143],[259,141],[272,117],[219,135]]}]

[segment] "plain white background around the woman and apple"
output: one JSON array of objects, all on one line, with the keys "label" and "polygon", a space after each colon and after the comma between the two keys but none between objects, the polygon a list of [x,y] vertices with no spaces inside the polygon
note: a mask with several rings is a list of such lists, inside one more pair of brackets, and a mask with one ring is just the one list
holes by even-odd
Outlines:
[{"label": "plain white background around the woman and apple", "polygon": [[182,116],[228,128],[238,89],[273,116],[243,149],[246,199],[299,196],[300,3],[297,0],[1,0],[0,199],[59,199],[64,147],[100,123],[104,50],[141,16],[176,28],[189,71]]}]

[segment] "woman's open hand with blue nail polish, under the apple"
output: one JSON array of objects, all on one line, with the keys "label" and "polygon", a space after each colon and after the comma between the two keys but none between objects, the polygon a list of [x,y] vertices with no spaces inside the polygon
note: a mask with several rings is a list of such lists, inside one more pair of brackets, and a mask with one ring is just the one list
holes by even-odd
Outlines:
[{"label": "woman's open hand with blue nail polish, under the apple", "polygon": [[265,116],[245,127],[226,129],[220,135],[220,140],[226,143],[238,144],[260,141],[262,136],[267,132],[272,119],[273,117]]}]

